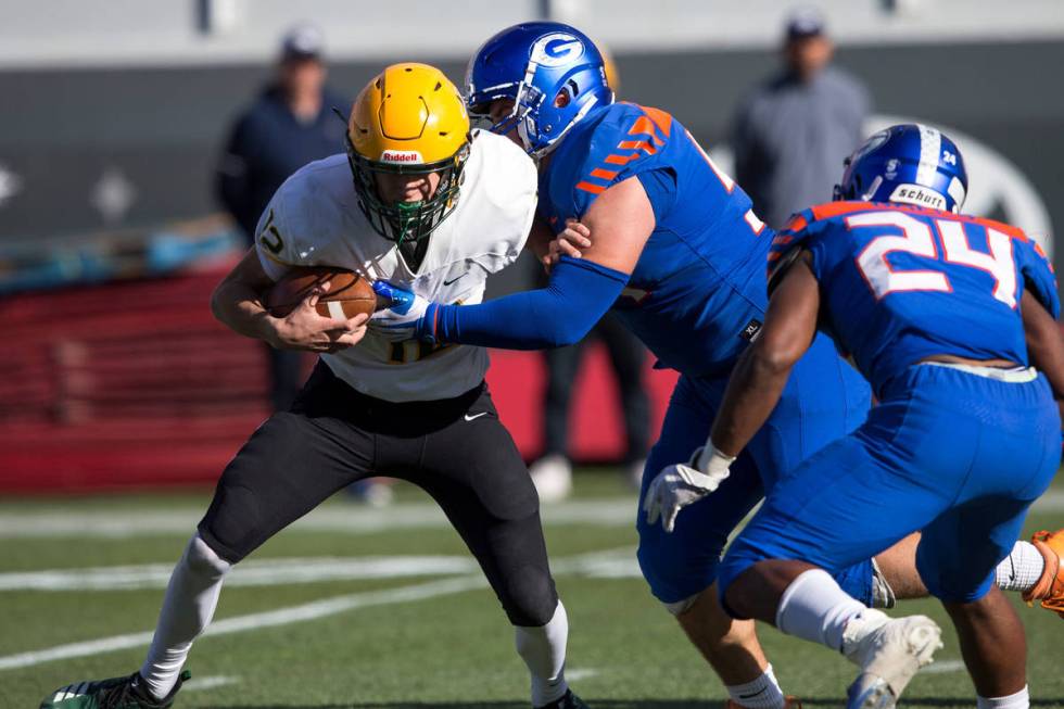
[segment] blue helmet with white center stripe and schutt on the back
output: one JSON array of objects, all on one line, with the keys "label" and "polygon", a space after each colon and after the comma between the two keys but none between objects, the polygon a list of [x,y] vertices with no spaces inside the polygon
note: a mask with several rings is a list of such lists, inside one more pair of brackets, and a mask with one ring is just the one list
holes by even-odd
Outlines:
[{"label": "blue helmet with white center stripe and schutt on the back", "polygon": [[961,211],[968,178],[957,144],[920,124],[890,126],[846,159],[836,200],[902,202]]}]

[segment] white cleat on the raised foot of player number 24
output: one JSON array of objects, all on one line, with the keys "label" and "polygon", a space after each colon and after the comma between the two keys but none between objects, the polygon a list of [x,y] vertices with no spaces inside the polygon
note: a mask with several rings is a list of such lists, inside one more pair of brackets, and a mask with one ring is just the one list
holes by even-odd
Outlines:
[{"label": "white cleat on the raised foot of player number 24", "polygon": [[866,610],[843,633],[843,655],[861,668],[847,689],[847,709],[894,709],[916,670],[942,647],[942,629],[926,616],[891,619]]}]

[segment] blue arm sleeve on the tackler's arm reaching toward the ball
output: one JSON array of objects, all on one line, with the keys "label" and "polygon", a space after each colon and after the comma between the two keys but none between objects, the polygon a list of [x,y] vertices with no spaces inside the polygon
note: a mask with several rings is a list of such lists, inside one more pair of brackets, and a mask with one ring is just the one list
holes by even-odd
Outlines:
[{"label": "blue arm sleeve on the tackler's arm reaching toward the ball", "polygon": [[583,339],[613,305],[628,274],[562,256],[546,288],[514,293],[480,305],[441,305],[438,342],[506,350],[544,350]]}]

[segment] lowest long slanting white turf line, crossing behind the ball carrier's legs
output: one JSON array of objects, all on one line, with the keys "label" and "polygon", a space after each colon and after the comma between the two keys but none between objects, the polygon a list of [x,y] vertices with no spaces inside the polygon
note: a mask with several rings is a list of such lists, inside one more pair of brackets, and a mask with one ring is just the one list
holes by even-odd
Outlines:
[{"label": "lowest long slanting white turf line, crossing behind the ball carrier's legs", "polygon": [[[572,557],[559,559],[552,566],[555,573],[572,572],[582,568],[584,565],[592,566],[603,557],[616,557],[621,554],[632,554],[629,547],[592,552]],[[230,633],[242,633],[263,628],[276,628],[278,625],[290,625],[292,623],[317,620],[328,616],[334,616],[349,610],[368,608],[371,606],[389,606],[400,603],[411,603],[425,600],[439,596],[446,596],[473,588],[486,587],[487,581],[481,575],[458,577],[456,579],[444,579],[441,581],[429,581],[398,588],[382,588],[365,593],[346,594],[324,598],[301,606],[291,606],[259,613],[249,613],[246,616],[236,616],[213,622],[204,631],[203,635],[228,635]],[[29,653],[18,653],[0,657],[0,670],[14,670],[18,668],[33,667],[43,662],[54,660],[66,660],[75,657],[86,657],[100,653],[113,653],[116,650],[143,647],[151,643],[153,631],[143,633],[128,633],[126,635],[114,635],[94,641],[81,643],[71,643],[59,645],[45,650],[33,650]]]}]

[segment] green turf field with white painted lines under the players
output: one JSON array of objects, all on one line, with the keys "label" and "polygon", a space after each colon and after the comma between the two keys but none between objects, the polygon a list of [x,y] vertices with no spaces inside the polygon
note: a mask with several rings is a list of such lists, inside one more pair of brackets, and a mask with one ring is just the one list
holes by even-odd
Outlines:
[{"label": "green turf field with white painted lines under the players", "polygon": [[[578,493],[544,511],[569,610],[572,686],[598,708],[720,707],[722,687],[638,575],[635,502],[620,476],[582,476]],[[206,501],[0,503],[0,707],[31,709],[62,684],[137,669],[169,568]],[[1062,518],[1057,488],[1028,532]],[[900,610],[948,626],[934,603]],[[1064,621],[1041,609],[1021,616],[1033,705],[1064,707]],[[213,631],[192,651],[194,679],[179,707],[527,706],[505,616],[457,535],[414,490],[385,510],[330,502],[270,541],[230,575]],[[841,657],[771,628],[761,637],[785,691],[807,707],[843,706],[853,672]],[[903,706],[974,707],[974,696],[947,631]]]}]

